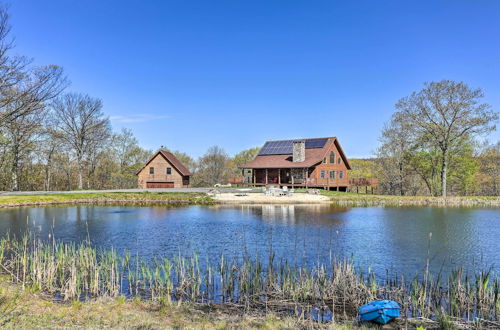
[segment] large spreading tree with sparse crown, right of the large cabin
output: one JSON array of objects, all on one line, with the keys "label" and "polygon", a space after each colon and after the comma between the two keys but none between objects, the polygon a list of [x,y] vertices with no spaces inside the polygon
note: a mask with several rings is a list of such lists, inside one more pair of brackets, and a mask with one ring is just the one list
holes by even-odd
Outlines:
[{"label": "large spreading tree with sparse crown, right of the large cabin", "polygon": [[448,158],[464,139],[495,130],[498,113],[481,103],[483,92],[462,82],[442,80],[425,87],[397,104],[398,114],[408,123],[408,134],[441,152],[441,194],[446,197]]}]

